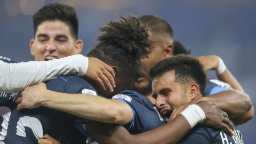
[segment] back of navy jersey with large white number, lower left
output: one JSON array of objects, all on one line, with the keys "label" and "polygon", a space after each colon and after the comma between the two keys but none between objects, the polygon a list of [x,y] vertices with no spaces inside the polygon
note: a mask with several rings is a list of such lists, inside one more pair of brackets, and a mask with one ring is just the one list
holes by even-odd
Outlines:
[{"label": "back of navy jersey with large white number, lower left", "polygon": [[[95,93],[93,87],[84,79],[75,75],[60,76],[46,83],[47,89],[64,93]],[[76,116],[45,107],[36,109],[10,109],[5,114],[7,126],[3,141],[5,143],[37,143],[43,134],[50,134],[60,139],[69,129],[72,129]],[[2,134],[1,134],[2,136]]]}]

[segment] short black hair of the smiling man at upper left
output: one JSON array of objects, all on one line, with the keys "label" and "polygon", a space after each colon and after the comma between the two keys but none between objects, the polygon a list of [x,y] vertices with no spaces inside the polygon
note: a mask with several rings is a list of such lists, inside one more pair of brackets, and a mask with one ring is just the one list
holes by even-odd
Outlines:
[{"label": "short black hair of the smiling man at upper left", "polygon": [[65,22],[70,28],[71,35],[77,39],[78,20],[74,7],[58,3],[49,4],[42,7],[33,15],[34,35],[36,35],[38,25],[48,20],[60,20]]}]

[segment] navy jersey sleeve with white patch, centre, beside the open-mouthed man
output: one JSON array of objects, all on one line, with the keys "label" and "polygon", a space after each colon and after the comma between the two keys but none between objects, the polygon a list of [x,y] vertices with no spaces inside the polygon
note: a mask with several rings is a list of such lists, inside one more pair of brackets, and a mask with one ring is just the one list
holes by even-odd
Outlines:
[{"label": "navy jersey sleeve with white patch, centre, beside the open-mouthed man", "polygon": [[115,95],[112,99],[121,100],[131,107],[133,119],[124,125],[131,134],[153,130],[165,124],[155,105],[138,92],[126,90]]}]

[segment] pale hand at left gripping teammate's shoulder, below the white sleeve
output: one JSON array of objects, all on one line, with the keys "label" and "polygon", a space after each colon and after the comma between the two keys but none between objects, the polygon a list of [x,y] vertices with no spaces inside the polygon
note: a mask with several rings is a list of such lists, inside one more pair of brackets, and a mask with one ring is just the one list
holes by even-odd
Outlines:
[{"label": "pale hand at left gripping teammate's shoulder, below the white sleeve", "polygon": [[33,86],[27,86],[19,95],[17,99],[17,110],[21,108],[37,108],[40,107],[41,104],[38,102],[38,98],[40,97],[40,90],[46,90],[45,83],[39,83]]}]

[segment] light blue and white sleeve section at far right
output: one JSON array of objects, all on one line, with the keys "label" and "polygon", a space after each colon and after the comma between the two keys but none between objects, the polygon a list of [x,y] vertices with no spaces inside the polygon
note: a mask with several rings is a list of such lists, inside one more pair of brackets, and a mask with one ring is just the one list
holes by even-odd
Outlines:
[{"label": "light blue and white sleeve section at far right", "polygon": [[232,89],[231,86],[225,82],[219,81],[218,79],[208,79],[203,95],[211,95],[230,89]]}]

